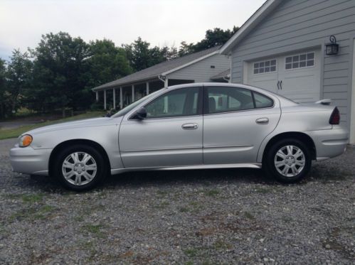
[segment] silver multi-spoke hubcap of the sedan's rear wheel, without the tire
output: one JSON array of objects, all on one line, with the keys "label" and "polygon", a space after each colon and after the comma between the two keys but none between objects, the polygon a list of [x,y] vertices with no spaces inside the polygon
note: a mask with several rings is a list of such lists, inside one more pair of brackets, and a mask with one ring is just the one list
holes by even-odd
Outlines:
[{"label": "silver multi-spoke hubcap of the sedan's rear wheel, without the tire", "polygon": [[294,177],[302,172],[306,158],[297,146],[282,146],[274,159],[278,173],[285,177]]}]

